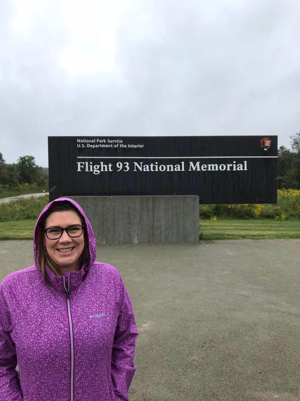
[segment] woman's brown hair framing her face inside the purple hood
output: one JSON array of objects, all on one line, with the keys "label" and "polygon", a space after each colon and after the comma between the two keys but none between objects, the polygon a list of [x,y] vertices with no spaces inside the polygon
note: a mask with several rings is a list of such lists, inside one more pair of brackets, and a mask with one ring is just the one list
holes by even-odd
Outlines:
[{"label": "woman's brown hair framing her face inside the purple hood", "polygon": [[[36,233],[35,233],[35,242],[36,242],[36,260],[38,267],[40,269],[40,272],[42,274],[43,279],[45,280],[46,284],[52,288],[52,285],[50,283],[50,280],[48,278],[46,269],[45,269],[45,264],[49,267],[49,269],[55,274],[59,275],[57,265],[54,263],[54,261],[50,258],[48,253],[46,253],[45,247],[44,247],[44,228],[46,224],[46,220],[48,216],[50,216],[51,213],[53,212],[64,212],[64,211],[74,211],[77,213],[77,215],[80,217],[81,224],[85,224],[83,216],[78,212],[76,207],[72,205],[72,203],[68,201],[62,201],[62,202],[57,202],[54,203],[52,207],[50,207],[44,215],[42,215],[38,226],[36,227]],[[84,264],[88,264],[90,262],[90,251],[88,247],[88,237],[86,235],[86,227],[84,227],[84,247],[82,250],[82,253],[79,257],[79,265],[82,266]]]}]

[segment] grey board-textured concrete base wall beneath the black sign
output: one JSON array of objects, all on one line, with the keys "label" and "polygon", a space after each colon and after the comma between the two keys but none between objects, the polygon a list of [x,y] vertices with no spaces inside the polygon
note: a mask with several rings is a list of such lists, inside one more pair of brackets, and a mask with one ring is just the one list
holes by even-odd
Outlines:
[{"label": "grey board-textured concrete base wall beneath the black sign", "polygon": [[68,196],[85,211],[97,244],[199,241],[199,196]]}]

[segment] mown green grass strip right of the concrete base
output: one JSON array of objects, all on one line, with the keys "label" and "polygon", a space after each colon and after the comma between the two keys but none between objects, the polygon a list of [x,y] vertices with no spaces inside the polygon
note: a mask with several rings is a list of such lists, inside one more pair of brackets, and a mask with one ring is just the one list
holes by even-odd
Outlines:
[{"label": "mown green grass strip right of the concrete base", "polygon": [[300,238],[300,220],[200,220],[200,239]]}]

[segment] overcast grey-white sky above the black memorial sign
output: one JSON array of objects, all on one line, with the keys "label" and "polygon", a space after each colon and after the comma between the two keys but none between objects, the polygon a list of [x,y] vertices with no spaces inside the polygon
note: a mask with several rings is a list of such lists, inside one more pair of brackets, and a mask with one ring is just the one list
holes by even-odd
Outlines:
[{"label": "overcast grey-white sky above the black memorial sign", "polygon": [[0,152],[300,130],[299,0],[0,0]]}]

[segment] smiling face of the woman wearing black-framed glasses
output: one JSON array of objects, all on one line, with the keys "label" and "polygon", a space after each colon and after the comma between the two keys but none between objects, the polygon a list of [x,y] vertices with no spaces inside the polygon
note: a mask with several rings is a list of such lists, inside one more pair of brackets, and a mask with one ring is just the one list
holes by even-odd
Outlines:
[{"label": "smiling face of the woman wearing black-framed glasses", "polygon": [[[51,213],[45,223],[45,229],[49,227],[69,227],[70,225],[81,225],[81,219],[75,211]],[[57,265],[60,274],[64,271],[78,270],[79,257],[84,248],[84,233],[80,237],[69,237],[66,230],[58,239],[48,239],[44,233],[44,245],[46,252]]]}]

